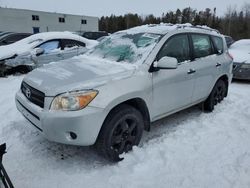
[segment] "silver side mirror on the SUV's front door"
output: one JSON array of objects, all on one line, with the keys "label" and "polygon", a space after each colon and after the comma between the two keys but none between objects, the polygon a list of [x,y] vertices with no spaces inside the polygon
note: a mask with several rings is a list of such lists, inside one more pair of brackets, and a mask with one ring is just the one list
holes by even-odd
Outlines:
[{"label": "silver side mirror on the SUV's front door", "polygon": [[178,60],[174,57],[162,57],[159,61],[154,62],[153,67],[156,70],[160,69],[177,69]]}]

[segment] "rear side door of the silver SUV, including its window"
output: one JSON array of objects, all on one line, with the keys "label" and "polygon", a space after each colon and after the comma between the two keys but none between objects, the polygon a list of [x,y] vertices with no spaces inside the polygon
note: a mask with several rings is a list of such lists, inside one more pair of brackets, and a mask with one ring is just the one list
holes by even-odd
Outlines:
[{"label": "rear side door of the silver SUV, including its window", "polygon": [[193,61],[191,67],[195,71],[195,89],[192,102],[208,97],[217,78],[217,62],[212,41],[206,34],[191,34],[191,44],[193,46]]}]

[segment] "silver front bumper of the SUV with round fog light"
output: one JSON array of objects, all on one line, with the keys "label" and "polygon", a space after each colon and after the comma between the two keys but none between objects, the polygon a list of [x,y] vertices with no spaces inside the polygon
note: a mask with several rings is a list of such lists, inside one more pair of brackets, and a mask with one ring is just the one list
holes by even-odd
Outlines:
[{"label": "silver front bumper of the SUV with round fog light", "polygon": [[70,145],[93,145],[107,115],[104,109],[96,107],[62,112],[42,109],[27,100],[20,90],[16,94],[16,106],[45,138]]}]

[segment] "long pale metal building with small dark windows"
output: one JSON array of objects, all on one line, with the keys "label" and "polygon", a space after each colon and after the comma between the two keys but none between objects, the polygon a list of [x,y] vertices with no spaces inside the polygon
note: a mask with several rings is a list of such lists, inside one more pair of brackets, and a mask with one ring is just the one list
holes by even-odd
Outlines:
[{"label": "long pale metal building with small dark windows", "polygon": [[0,31],[98,31],[98,17],[0,7]]}]

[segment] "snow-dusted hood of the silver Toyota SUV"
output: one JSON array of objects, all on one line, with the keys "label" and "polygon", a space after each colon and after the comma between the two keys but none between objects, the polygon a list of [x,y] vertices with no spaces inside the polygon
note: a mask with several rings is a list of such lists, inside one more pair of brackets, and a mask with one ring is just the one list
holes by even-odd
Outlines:
[{"label": "snow-dusted hood of the silver Toyota SUV", "polygon": [[55,96],[69,91],[94,89],[114,80],[128,78],[136,67],[81,55],[35,69],[24,81],[46,96]]}]

